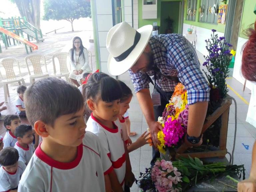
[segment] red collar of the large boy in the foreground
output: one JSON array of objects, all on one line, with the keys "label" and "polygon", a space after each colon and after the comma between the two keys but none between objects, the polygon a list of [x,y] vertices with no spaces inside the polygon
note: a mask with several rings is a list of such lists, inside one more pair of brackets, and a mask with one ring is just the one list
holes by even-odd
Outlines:
[{"label": "red collar of the large boy in the foreground", "polygon": [[56,160],[52,159],[51,157],[49,157],[47,154],[45,154],[45,152],[42,151],[41,143],[36,148],[35,154],[43,162],[45,162],[46,164],[48,164],[52,167],[55,167],[57,169],[63,169],[63,170],[73,169],[80,163],[80,160],[82,159],[83,143],[81,143],[81,145],[77,146],[77,156],[76,156],[75,160],[68,162],[68,163],[59,162],[59,161],[56,161]]}]

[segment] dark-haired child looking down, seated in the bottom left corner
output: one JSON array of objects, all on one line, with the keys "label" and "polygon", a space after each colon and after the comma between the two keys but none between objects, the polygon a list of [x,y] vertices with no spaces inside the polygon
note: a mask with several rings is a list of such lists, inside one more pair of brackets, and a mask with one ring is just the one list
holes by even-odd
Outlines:
[{"label": "dark-haired child looking down, seated in the bottom left corner", "polygon": [[0,151],[0,191],[16,192],[20,177],[26,165],[18,161],[19,153],[13,147],[7,147]]}]

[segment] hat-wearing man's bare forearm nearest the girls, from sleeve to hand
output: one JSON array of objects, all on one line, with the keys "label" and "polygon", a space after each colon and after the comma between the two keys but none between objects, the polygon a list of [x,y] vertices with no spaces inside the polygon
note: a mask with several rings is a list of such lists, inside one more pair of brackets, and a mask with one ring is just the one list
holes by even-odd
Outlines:
[{"label": "hat-wearing man's bare forearm nearest the girls, from sleeve to hand", "polygon": [[142,89],[138,91],[136,96],[147,123],[149,124],[150,122],[155,121],[154,108],[149,89]]}]

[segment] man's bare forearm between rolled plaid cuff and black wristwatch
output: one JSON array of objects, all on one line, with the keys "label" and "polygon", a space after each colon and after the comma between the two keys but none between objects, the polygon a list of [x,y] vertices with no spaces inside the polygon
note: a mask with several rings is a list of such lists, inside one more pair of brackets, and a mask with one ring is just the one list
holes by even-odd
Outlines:
[{"label": "man's bare forearm between rolled plaid cuff and black wristwatch", "polygon": [[188,129],[189,136],[199,137],[205,121],[208,101],[197,102],[188,107]]}]

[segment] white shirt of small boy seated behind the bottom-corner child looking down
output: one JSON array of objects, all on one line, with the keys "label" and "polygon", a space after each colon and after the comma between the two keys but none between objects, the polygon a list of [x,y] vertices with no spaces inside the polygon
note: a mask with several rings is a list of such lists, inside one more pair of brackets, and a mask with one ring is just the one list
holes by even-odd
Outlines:
[{"label": "white shirt of small boy seated behind the bottom-corner child looking down", "polygon": [[29,144],[27,145],[27,148],[23,148],[17,141],[14,148],[19,152],[19,161],[22,161],[27,165],[35,151],[33,144]]}]

